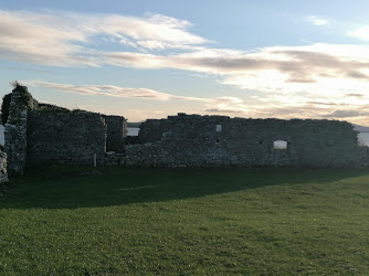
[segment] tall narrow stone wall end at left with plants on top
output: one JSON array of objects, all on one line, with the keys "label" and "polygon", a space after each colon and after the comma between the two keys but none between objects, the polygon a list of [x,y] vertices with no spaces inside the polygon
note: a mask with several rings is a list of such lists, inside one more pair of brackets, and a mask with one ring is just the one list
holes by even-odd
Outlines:
[{"label": "tall narrow stone wall end at left with plants on top", "polygon": [[9,173],[23,173],[27,162],[28,109],[36,108],[25,86],[17,86],[11,94],[9,117],[4,125],[4,151],[8,153]]}]

